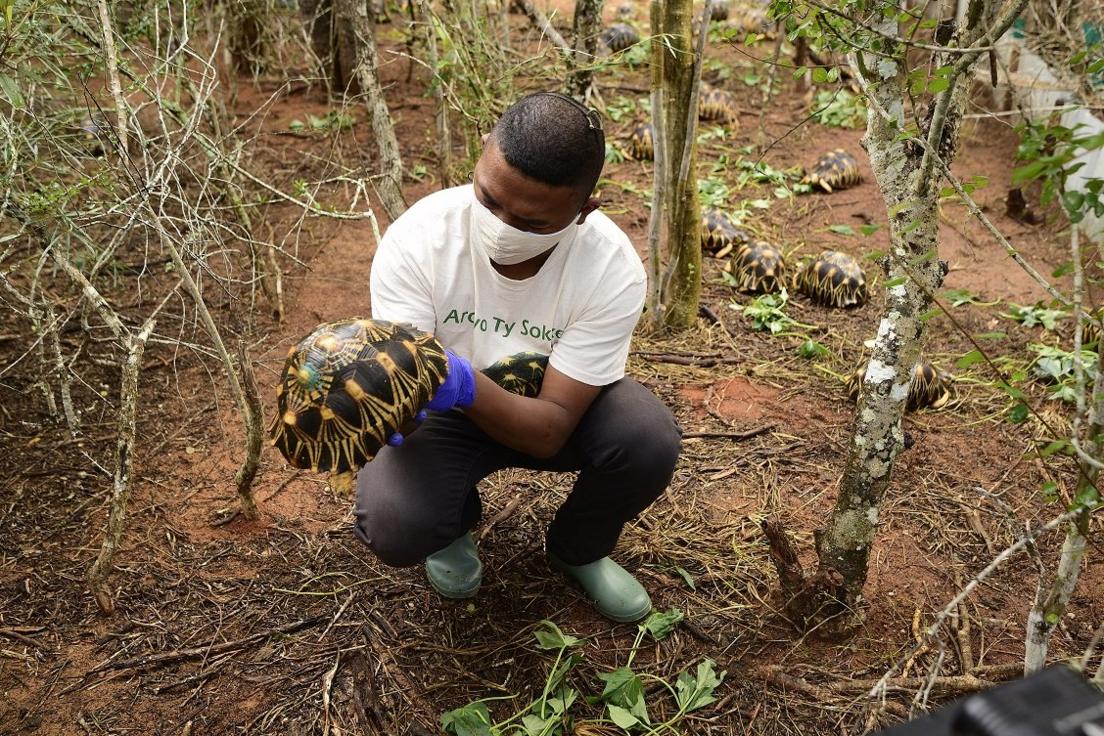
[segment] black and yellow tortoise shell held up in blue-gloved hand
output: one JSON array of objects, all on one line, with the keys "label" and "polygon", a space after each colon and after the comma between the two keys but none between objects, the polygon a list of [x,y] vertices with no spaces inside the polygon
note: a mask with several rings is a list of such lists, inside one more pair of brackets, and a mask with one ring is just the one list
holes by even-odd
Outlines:
[{"label": "black and yellow tortoise shell held up in blue-gloved hand", "polygon": [[355,470],[411,422],[448,373],[445,349],[414,328],[328,322],[288,352],[272,444],[296,468]]}]

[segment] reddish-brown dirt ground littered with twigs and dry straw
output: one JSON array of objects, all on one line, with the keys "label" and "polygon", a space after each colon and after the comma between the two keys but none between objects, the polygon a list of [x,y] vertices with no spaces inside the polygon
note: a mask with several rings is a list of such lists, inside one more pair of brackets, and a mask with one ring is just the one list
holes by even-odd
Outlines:
[{"label": "reddish-brown dirt ground littered with twigs and dry straw", "polygon": [[[397,49],[393,40],[386,43]],[[743,77],[762,73],[749,54],[768,53],[764,46],[711,47],[731,71],[712,81],[737,96],[742,114],[739,130],[703,148],[703,177],[721,154],[730,162],[755,156],[742,151],[758,136],[762,90]],[[406,62],[384,56],[388,96],[413,171],[432,161],[432,102],[420,70],[407,82]],[[764,116],[765,140],[781,140],[766,153],[767,163],[808,166],[834,147],[860,152],[858,130],[808,124],[790,131],[808,105],[783,78]],[[636,71],[602,79],[599,89],[612,105],[618,97],[645,98],[646,84],[645,72]],[[327,157],[338,149],[372,170],[374,146],[363,114],[352,130],[289,136],[291,120],[321,115],[332,104],[317,88],[279,89],[242,81],[235,108],[238,120],[266,141],[253,164],[274,183],[290,189],[297,179],[325,179]],[[643,115],[637,105],[609,122],[609,140],[623,141]],[[989,178],[978,192],[987,213],[1050,273],[1066,259],[1055,221],[1031,227],[1004,215],[1016,143],[1007,125],[970,121],[956,169]],[[732,204],[772,201],[754,211],[747,226],[781,244],[792,260],[826,247],[856,256],[885,247],[884,228],[869,237],[829,230],[850,225],[858,233],[862,224],[884,223],[869,169],[859,188],[793,200],[775,200],[771,185],[736,191],[736,174],[731,166],[710,175],[732,184]],[[650,186],[649,168],[626,160],[609,164],[605,177],[606,211],[643,248],[641,192]],[[432,174],[412,180],[407,200],[434,189]],[[319,198],[343,203],[350,193],[337,185]],[[268,212],[276,238],[299,216],[284,205]],[[318,322],[369,311],[374,242],[367,222],[309,218],[295,247],[304,266],[284,264],[287,318],[276,324],[259,317],[250,345],[269,402],[290,342]],[[995,352],[1026,362],[1028,343],[1063,339],[1001,316],[1007,302],[1031,303],[1043,295],[963,207],[946,205],[940,247],[952,268],[947,288],[1004,300],[953,310],[972,332],[1006,332]],[[864,264],[875,279],[877,266]],[[657,608],[686,614],[669,639],[643,648],[636,668],[673,679],[709,657],[728,672],[719,702],[686,722],[683,733],[861,733],[905,715],[915,690],[892,693],[885,711],[868,721],[859,702],[864,687],[907,655],[934,612],[1016,538],[1023,522],[1058,513],[1040,488],[1054,479],[1068,497],[1071,466],[1061,458],[1031,458],[1044,428],[1007,422],[1007,401],[980,366],[954,371],[955,359],[970,345],[946,317],[936,317],[928,356],[956,372],[956,398],[944,410],[906,419],[915,446],[894,469],[867,585],[866,622],[849,638],[799,636],[777,610],[760,521],[784,521],[806,562],[814,562],[811,532],[831,508],[847,456],[852,405],[841,378],[873,335],[882,299],[877,284],[870,303],[848,311],[795,297],[787,311],[817,326],[813,335],[830,351],[810,362],[795,353],[803,338],[752,332],[729,309],[733,295],[720,267],[707,263],[703,303],[724,326],[702,320],[689,333],[641,333],[629,372],[668,403],[688,433],[764,431],[743,440],[687,439],[666,497],[626,530],[618,559],[646,583]],[[21,350],[8,335],[25,327],[4,320],[0,350],[7,363]],[[201,341],[198,330],[192,337]],[[487,568],[484,587],[470,602],[445,602],[420,568],[376,563],[350,532],[349,499],[335,495],[322,478],[287,468],[274,452],[266,454],[256,483],[263,519],[216,525],[220,510],[234,503],[231,479],[241,449],[233,405],[216,388],[217,369],[156,348],[146,362],[142,444],[113,578],[113,617],[97,612],[83,576],[110,488],[96,463],[109,470],[114,415],[110,399],[96,393],[112,391],[114,373],[87,376],[82,397],[98,414],[86,414],[81,441],[42,423],[32,373],[4,378],[14,391],[2,406],[0,734],[438,733],[442,712],[474,698],[505,698],[491,710],[506,715],[540,692],[551,663],[533,648],[532,630],[543,619],[586,638],[585,659],[573,675],[584,694],[601,692],[597,672],[624,663],[636,627],[601,619],[543,562],[543,526],[570,477],[503,472],[482,486],[485,520],[477,536]],[[104,386],[96,385],[99,380]],[[1060,419],[1060,407],[1042,399],[1042,387],[1032,397],[1044,416]],[[1018,521],[978,489],[998,494]],[[1048,563],[1058,543],[1048,537],[1041,545]],[[1095,553],[1054,637],[1054,659],[1080,654],[1104,617]],[[904,674],[924,676],[942,658],[944,675],[984,682],[1015,675],[1034,580],[1030,562],[1013,559],[962,607],[953,633],[924,648]],[[960,694],[951,685],[938,684],[933,701]]]}]

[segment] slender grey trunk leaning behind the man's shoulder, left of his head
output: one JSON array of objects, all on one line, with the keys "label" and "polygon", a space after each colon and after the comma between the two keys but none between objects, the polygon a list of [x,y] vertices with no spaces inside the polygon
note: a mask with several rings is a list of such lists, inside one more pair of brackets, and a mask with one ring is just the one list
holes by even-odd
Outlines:
[{"label": "slender grey trunk leaning behind the man's shoulder, left of his head", "polygon": [[380,149],[380,183],[376,191],[383,209],[392,221],[406,211],[403,200],[403,162],[399,153],[395,127],[383,98],[380,86],[380,64],[375,51],[375,35],[368,18],[368,8],[362,0],[336,0],[338,25],[351,29],[355,51],[354,78],[368,98],[368,109],[372,115],[372,132]]}]

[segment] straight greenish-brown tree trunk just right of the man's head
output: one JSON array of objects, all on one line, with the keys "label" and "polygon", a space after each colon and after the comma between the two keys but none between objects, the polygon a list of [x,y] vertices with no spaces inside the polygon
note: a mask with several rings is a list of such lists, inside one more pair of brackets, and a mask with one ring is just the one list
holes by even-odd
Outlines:
[{"label": "straight greenish-brown tree trunk just right of the man's head", "polygon": [[[664,141],[666,149],[667,253],[670,263],[664,284],[664,323],[690,327],[698,319],[701,298],[701,239],[698,211],[698,116],[694,104],[694,50],[691,45],[692,3],[664,3],[660,33],[652,63],[662,64]],[[656,111],[652,111],[655,115]],[[659,172],[657,171],[657,175]]]}]

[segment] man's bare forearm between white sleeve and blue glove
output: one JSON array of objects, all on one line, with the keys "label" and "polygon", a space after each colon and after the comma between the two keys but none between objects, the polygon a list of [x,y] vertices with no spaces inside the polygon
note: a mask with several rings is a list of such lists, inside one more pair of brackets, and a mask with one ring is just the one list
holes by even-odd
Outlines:
[{"label": "man's bare forearm between white sleeve and blue glove", "polygon": [[464,409],[493,439],[535,458],[563,448],[602,386],[570,378],[551,365],[537,398],[511,394],[476,373],[476,401]]}]

